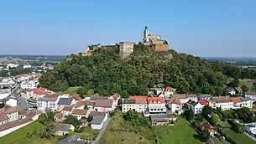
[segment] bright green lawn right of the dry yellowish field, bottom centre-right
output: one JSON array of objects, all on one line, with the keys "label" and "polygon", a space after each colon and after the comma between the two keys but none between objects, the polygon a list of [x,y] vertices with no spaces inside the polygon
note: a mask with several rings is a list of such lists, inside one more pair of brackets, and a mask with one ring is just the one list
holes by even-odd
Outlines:
[{"label": "bright green lawn right of the dry yellowish field, bottom centre-right", "polygon": [[198,144],[194,136],[196,131],[189,126],[189,122],[180,118],[175,126],[158,126],[155,129],[157,143],[159,144]]}]

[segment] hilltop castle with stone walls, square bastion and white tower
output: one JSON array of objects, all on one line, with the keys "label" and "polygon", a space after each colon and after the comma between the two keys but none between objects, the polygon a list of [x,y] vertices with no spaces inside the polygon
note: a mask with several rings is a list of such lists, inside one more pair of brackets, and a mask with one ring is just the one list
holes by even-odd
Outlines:
[{"label": "hilltop castle with stone walls, square bastion and white tower", "polygon": [[[168,43],[166,40],[162,40],[159,35],[153,35],[149,33],[148,26],[146,25],[144,28],[144,34],[143,34],[142,44],[145,45],[151,45],[153,50],[156,52],[159,51],[168,51]],[[120,42],[118,44],[119,47],[119,55],[121,58],[126,58],[130,54],[133,53],[134,45],[136,43],[134,42]],[[112,49],[114,48],[114,44],[111,45],[101,45],[101,44],[91,44],[87,47],[86,53],[79,53],[82,56],[90,56],[91,52],[95,49]]]}]

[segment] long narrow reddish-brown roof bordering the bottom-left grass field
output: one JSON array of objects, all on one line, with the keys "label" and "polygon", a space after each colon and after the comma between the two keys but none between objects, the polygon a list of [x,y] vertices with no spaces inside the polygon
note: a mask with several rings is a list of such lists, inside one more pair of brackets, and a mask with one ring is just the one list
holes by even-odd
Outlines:
[{"label": "long narrow reddish-brown roof bordering the bottom-left grass field", "polygon": [[21,119],[21,120],[18,120],[18,121],[11,121],[11,122],[8,122],[6,124],[1,125],[0,126],[0,131],[5,131],[5,130],[8,130],[10,128],[28,123],[30,121],[33,121],[31,117],[27,117],[27,118],[24,118],[24,119]]}]

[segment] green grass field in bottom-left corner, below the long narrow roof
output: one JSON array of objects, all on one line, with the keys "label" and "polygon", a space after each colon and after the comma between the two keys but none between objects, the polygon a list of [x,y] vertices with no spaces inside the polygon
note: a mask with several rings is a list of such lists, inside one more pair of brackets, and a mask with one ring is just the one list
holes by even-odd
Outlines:
[{"label": "green grass field in bottom-left corner, below the long narrow roof", "polygon": [[55,144],[57,137],[51,140],[40,139],[37,136],[32,136],[31,138],[27,138],[27,132],[33,131],[35,128],[40,128],[42,125],[38,121],[34,121],[28,126],[24,126],[17,131],[14,131],[7,136],[3,136],[0,138],[0,143],[3,144]]}]

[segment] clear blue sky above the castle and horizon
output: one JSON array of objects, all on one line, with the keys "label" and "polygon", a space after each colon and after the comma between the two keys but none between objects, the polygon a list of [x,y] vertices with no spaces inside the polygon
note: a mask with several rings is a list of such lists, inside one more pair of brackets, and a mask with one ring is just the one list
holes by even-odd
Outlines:
[{"label": "clear blue sky above the castle and horizon", "polygon": [[255,0],[0,0],[0,54],[77,54],[142,40],[201,57],[256,57]]}]

